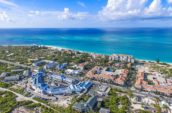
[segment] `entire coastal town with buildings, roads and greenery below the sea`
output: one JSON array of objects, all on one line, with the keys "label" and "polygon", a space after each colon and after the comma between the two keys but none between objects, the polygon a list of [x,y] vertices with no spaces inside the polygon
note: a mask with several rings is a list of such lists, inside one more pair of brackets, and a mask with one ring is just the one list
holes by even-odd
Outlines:
[{"label": "entire coastal town with buildings, roads and greenery below the sea", "polygon": [[172,65],[48,46],[0,47],[0,113],[171,113]]}]

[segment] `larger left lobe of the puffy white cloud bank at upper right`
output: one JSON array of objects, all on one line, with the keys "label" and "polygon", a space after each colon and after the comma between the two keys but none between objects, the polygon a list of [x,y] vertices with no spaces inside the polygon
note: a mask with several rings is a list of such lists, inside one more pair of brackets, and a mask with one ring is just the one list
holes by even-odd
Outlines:
[{"label": "larger left lobe of the puffy white cloud bank at upper right", "polygon": [[147,0],[108,0],[101,17],[116,20],[141,14]]}]

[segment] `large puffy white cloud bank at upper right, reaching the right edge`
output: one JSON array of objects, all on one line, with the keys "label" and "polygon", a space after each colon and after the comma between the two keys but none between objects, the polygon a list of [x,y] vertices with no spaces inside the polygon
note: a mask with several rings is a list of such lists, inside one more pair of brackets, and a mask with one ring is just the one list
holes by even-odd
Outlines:
[{"label": "large puffy white cloud bank at upper right, reaching the right edge", "polygon": [[148,0],[108,0],[99,17],[104,20],[128,20],[171,16],[171,7],[163,7],[161,0],[148,3]]}]

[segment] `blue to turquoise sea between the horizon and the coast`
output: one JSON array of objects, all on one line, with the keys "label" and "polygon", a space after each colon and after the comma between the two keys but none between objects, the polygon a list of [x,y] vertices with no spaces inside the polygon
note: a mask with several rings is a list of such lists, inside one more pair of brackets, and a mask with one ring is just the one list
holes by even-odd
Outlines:
[{"label": "blue to turquoise sea between the horizon and the coast", "polygon": [[172,62],[172,28],[0,29],[0,45],[31,44]]}]

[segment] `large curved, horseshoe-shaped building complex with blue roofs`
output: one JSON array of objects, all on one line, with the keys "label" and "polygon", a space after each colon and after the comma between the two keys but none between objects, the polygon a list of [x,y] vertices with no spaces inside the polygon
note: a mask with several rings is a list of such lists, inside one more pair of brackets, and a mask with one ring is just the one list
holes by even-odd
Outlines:
[{"label": "large curved, horseshoe-shaped building complex with blue roofs", "polygon": [[44,76],[46,75],[43,72],[38,72],[36,75],[33,75],[32,88],[35,89],[35,91],[37,92],[49,95],[68,95],[72,93],[81,93],[84,90],[88,90],[93,85],[93,83],[90,81],[75,82],[74,79],[67,78],[64,75],[52,75],[54,79],[59,79],[68,83],[68,86],[49,86],[44,82]]}]

